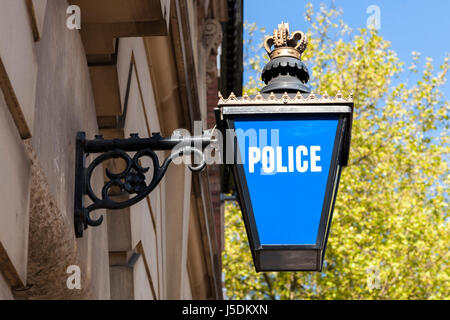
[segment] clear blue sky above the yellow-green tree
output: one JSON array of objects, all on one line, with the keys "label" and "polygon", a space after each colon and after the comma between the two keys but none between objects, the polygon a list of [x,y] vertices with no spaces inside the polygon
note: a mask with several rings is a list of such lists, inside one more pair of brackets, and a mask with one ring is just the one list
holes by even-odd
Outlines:
[{"label": "clear blue sky above the yellow-green tree", "polygon": [[[304,20],[305,0],[244,0],[244,20],[256,22],[271,34],[281,22],[289,22],[291,30],[306,30]],[[314,8],[330,0],[313,0]],[[381,28],[379,33],[391,41],[392,49],[400,60],[411,62],[411,52],[417,51],[422,58],[431,57],[437,67],[450,53],[450,0],[335,0],[343,9],[343,20],[354,30],[365,28],[370,16],[370,5],[380,7]],[[447,76],[449,78],[449,76]],[[244,75],[247,79],[247,75]],[[450,84],[443,88],[450,98]]]}]

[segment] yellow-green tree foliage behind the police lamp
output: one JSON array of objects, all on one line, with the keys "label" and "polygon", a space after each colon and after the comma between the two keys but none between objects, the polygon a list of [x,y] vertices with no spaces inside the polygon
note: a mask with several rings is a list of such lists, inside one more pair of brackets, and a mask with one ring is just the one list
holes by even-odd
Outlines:
[{"label": "yellow-green tree foliage behind the police lamp", "polygon": [[[314,92],[353,92],[350,163],[337,196],[323,272],[256,273],[236,203],[225,213],[223,265],[232,299],[449,299],[448,110],[435,70],[413,52],[405,67],[374,30],[351,30],[340,10],[306,6]],[[246,25],[246,68],[267,57]],[[264,31],[263,31],[264,32]],[[253,56],[252,56],[253,54]],[[414,79],[412,81],[411,79]],[[246,91],[262,84],[250,78]]]}]

